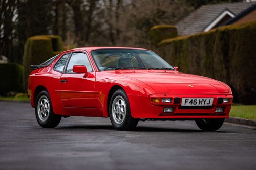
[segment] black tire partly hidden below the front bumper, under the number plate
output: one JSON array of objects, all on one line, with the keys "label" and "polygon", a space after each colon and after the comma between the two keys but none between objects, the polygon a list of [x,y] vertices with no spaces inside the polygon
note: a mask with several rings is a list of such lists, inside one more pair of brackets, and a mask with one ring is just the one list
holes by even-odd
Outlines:
[{"label": "black tire partly hidden below the front bumper, under the number plate", "polygon": [[197,119],[197,126],[204,131],[216,131],[221,128],[225,118]]}]

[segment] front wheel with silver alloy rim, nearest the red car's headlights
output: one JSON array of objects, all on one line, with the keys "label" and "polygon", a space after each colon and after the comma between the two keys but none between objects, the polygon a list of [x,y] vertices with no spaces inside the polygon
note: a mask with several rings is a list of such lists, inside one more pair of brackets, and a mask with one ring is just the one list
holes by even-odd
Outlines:
[{"label": "front wheel with silver alloy rim, nearest the red car's headlights", "polygon": [[116,90],[111,97],[109,116],[113,127],[117,130],[133,130],[139,121],[131,116],[130,103],[122,89]]}]

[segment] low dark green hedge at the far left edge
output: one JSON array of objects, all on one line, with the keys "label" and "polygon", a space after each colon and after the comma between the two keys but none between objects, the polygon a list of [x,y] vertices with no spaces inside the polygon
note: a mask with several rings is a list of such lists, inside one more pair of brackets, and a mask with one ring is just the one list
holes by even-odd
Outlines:
[{"label": "low dark green hedge at the far left edge", "polygon": [[0,95],[23,92],[23,67],[15,63],[0,64]]}]

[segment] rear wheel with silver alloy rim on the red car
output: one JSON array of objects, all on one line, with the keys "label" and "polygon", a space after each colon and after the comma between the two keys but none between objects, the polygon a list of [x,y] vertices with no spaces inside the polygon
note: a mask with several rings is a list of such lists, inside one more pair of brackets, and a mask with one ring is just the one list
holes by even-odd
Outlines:
[{"label": "rear wheel with silver alloy rim on the red car", "polygon": [[55,128],[61,120],[61,115],[53,113],[51,98],[46,90],[41,91],[37,96],[35,116],[38,124],[43,128]]}]

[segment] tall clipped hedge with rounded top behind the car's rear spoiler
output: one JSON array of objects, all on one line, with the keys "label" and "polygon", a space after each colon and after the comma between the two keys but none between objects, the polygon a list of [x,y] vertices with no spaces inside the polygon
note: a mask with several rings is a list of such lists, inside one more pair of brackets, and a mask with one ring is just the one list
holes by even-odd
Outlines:
[{"label": "tall clipped hedge with rounded top behind the car's rear spoiler", "polygon": [[27,88],[27,80],[32,69],[30,65],[41,64],[47,59],[63,51],[63,43],[60,36],[40,35],[27,39],[24,47],[24,88]]}]

